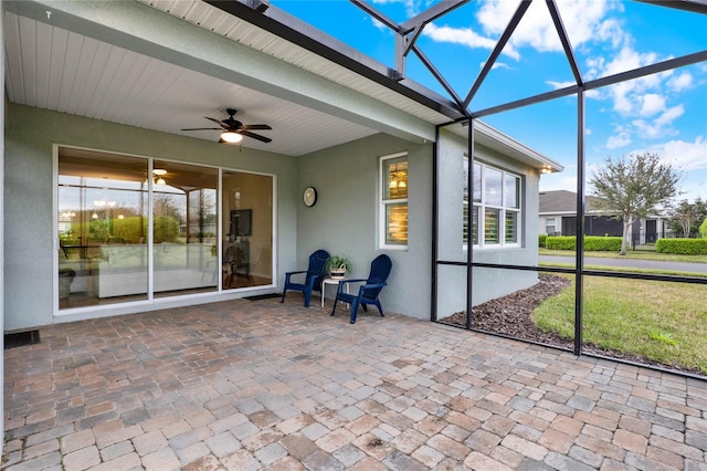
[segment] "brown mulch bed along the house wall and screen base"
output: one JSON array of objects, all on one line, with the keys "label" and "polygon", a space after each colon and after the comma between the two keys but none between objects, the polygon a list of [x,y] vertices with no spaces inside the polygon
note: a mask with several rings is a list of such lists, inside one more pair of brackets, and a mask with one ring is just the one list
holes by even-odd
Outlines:
[{"label": "brown mulch bed along the house wall and screen base", "polygon": [[[474,306],[472,310],[472,327],[572,350],[574,341],[561,338],[553,333],[542,332],[536,327],[530,318],[532,311],[542,301],[558,295],[562,290],[568,287],[571,282],[566,278],[548,274],[539,274],[538,278],[539,281],[534,286]],[[454,313],[449,317],[440,320],[440,322],[466,325],[466,313]],[[584,344],[582,352],[644,364],[646,366],[657,366],[705,376],[699,368],[689,368],[682,365],[665,365],[640,355],[606,350],[594,344]]]}]

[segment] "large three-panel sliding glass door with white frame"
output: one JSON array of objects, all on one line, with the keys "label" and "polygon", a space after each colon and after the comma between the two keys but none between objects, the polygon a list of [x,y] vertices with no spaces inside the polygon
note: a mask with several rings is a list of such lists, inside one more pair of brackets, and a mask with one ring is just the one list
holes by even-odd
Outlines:
[{"label": "large three-panel sliding glass door with white frame", "polygon": [[222,175],[60,148],[60,310],[272,284],[273,177]]}]

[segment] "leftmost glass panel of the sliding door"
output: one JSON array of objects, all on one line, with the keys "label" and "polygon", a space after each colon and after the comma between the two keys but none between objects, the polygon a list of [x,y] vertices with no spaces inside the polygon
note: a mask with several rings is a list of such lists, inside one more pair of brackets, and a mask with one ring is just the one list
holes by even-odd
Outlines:
[{"label": "leftmost glass panel of the sliding door", "polygon": [[147,160],[59,151],[59,305],[147,299]]}]

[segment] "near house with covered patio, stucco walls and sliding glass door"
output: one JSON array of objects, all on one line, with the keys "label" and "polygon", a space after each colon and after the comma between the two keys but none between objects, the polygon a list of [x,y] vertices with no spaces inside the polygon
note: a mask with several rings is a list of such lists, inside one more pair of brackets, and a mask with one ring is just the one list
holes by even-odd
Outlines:
[{"label": "near house with covered patio, stucco walls and sliding glass door", "polygon": [[[390,254],[383,306],[430,318],[435,154],[439,258],[465,260],[471,213],[477,261],[537,265],[523,221],[557,163],[477,123],[469,201],[446,101],[302,48],[276,12],[183,3],[3,2],[6,332],[281,292],[317,249],[355,278]],[[184,130],[228,107],[260,137]],[[537,280],[497,272],[475,275],[475,303]],[[463,306],[460,273],[440,274],[442,315]]]}]

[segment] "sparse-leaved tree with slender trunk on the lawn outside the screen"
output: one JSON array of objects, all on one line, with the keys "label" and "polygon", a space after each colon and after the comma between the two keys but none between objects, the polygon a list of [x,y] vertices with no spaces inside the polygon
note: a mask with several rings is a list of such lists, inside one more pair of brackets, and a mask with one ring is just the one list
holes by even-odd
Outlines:
[{"label": "sparse-leaved tree with slender trunk on the lawn outside the screen", "polygon": [[666,206],[677,193],[680,175],[669,164],[661,164],[654,153],[631,154],[627,158],[606,158],[604,167],[592,175],[597,207],[623,219],[621,254],[626,254],[631,224],[658,207]]}]

